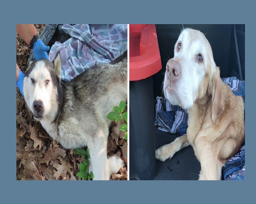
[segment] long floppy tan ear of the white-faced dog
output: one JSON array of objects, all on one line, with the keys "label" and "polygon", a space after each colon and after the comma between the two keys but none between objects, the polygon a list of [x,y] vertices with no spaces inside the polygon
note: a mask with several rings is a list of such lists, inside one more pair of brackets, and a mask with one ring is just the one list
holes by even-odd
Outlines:
[{"label": "long floppy tan ear of the white-faced dog", "polygon": [[210,82],[208,93],[212,94],[212,122],[215,125],[218,115],[224,110],[225,101],[223,94],[224,85],[220,79],[219,67],[216,67],[216,72]]}]

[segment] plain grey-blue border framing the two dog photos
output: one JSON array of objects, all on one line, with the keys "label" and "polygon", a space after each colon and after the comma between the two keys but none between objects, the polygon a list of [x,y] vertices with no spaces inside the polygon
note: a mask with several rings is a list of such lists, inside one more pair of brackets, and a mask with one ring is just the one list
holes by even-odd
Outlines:
[{"label": "plain grey-blue border framing the two dog photos", "polygon": [[[8,1],[1,19],[1,203],[244,203],[255,170],[255,6],[246,1]],[[16,181],[16,24],[166,23],[245,24],[246,181]]]}]

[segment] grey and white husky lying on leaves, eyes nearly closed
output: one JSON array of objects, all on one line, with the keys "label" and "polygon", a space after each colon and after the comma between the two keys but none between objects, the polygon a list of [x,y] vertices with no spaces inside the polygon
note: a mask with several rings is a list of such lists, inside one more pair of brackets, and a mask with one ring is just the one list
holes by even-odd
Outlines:
[{"label": "grey and white husky lying on leaves, eyes nearly closed", "polygon": [[30,64],[23,81],[24,98],[34,119],[64,148],[89,148],[94,180],[109,180],[123,165],[107,158],[107,114],[127,100],[127,51],[61,84],[59,53],[53,62]]}]

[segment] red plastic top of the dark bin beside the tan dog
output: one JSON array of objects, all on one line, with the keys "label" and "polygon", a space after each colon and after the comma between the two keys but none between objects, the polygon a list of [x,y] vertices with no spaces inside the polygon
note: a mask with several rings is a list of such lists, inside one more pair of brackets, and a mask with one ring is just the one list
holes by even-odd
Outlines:
[{"label": "red plastic top of the dark bin beside the tan dog", "polygon": [[148,78],[161,68],[154,24],[130,24],[130,81]]}]

